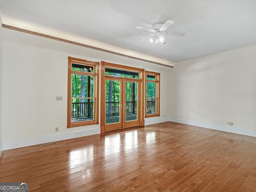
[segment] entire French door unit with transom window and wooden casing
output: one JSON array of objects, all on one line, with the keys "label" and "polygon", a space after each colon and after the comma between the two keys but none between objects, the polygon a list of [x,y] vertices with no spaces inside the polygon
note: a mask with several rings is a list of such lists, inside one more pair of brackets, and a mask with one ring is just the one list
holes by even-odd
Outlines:
[{"label": "entire French door unit with transom window and wooden casing", "polygon": [[144,69],[101,61],[100,133],[144,126],[144,76]]}]

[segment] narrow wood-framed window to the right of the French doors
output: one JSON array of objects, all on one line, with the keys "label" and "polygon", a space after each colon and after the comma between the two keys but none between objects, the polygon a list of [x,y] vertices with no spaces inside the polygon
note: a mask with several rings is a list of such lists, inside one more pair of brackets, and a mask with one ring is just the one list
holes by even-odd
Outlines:
[{"label": "narrow wood-framed window to the right of the French doors", "polygon": [[146,71],[146,118],[160,116],[160,73]]}]

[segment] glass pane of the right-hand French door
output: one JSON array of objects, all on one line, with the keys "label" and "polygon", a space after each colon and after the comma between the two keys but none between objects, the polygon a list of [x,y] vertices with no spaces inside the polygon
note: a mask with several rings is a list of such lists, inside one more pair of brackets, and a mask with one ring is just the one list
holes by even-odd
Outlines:
[{"label": "glass pane of the right-hand French door", "polygon": [[125,102],[125,121],[133,121],[138,119],[138,82],[126,81],[126,102]]}]

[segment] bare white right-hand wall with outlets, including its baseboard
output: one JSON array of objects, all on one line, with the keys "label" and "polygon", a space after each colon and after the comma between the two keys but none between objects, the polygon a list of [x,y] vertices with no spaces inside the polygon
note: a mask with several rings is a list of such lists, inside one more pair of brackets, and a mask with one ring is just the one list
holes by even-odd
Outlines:
[{"label": "bare white right-hand wall with outlets, including its baseboard", "polygon": [[256,46],[178,62],[169,88],[171,121],[256,136]]}]

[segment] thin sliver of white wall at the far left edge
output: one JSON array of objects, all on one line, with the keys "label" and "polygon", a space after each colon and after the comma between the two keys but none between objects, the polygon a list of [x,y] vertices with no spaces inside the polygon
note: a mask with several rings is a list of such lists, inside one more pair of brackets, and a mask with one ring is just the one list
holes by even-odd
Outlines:
[{"label": "thin sliver of white wall at the far left edge", "polygon": [[[0,23],[2,23],[2,12],[0,10]],[[3,74],[3,34],[2,28],[0,27],[0,156],[3,151],[2,143],[2,74]]]}]

